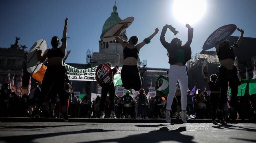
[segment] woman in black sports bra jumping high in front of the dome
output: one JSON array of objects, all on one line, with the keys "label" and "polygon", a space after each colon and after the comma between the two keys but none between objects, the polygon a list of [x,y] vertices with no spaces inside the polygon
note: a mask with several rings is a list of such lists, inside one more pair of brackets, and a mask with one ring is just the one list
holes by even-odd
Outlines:
[{"label": "woman in black sports bra jumping high in front of the dome", "polygon": [[[124,25],[117,32],[117,35],[119,35],[126,27],[127,25]],[[123,47],[124,61],[121,70],[121,79],[125,89],[129,90],[133,88],[136,91],[141,89],[141,75],[137,63],[139,51],[145,44],[150,43],[150,40],[158,33],[158,31],[158,28],[156,28],[155,32],[151,36],[145,38],[144,41],[139,44],[137,44],[139,40],[137,36],[132,36],[129,41],[123,41],[119,37],[115,38]]]}]

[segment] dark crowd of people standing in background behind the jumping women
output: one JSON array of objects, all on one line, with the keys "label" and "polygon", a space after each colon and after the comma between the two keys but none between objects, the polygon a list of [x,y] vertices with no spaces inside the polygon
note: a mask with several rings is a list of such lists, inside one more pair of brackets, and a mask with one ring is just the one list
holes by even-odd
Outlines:
[{"label": "dark crowd of people standing in background behind the jumping women", "polygon": [[[11,92],[8,89],[8,83],[4,84],[0,90],[0,116],[31,116],[33,108],[35,108],[35,102],[38,100],[38,96],[40,95],[41,89],[38,87],[37,83],[34,84],[29,95],[23,95],[22,97],[17,96],[15,92]],[[216,104],[214,104],[215,102],[211,100],[215,99],[207,94],[207,92],[202,92],[200,89],[198,89],[198,93],[191,94],[188,90],[186,107],[187,119],[215,119]],[[102,99],[100,96],[97,96],[92,102],[91,99],[87,99],[86,96],[82,99],[78,99],[72,92],[69,99],[68,116],[71,118],[111,118],[112,108],[110,105],[110,96],[106,97],[104,109],[102,109],[101,101]],[[229,103],[230,98],[227,96],[226,103],[223,106],[223,118],[226,120],[231,118]],[[122,97],[115,95],[114,113],[116,118],[165,118],[165,105],[166,98],[164,97],[155,96],[148,98],[143,89],[140,90],[140,94],[133,97],[131,92],[127,90],[125,95]],[[256,95],[239,97],[237,104],[237,115],[235,118],[256,119],[255,105]],[[172,118],[181,118],[179,114],[181,110],[181,92],[180,89],[177,89],[171,107]],[[51,98],[48,102],[44,102],[41,111],[42,114],[40,114],[38,117],[62,118],[59,96],[57,95],[55,99]],[[102,111],[104,111],[104,116],[102,116]]]}]

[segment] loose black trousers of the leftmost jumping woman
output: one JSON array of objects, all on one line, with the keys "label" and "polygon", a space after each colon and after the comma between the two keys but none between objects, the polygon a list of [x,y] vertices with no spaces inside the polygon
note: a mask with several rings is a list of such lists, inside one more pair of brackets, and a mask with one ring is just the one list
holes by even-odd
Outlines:
[{"label": "loose black trousers of the leftmost jumping woman", "polygon": [[37,104],[39,106],[42,106],[51,96],[56,97],[57,94],[59,95],[60,105],[67,105],[67,97],[64,91],[65,73],[64,66],[47,67],[42,81],[42,95],[38,97]]}]

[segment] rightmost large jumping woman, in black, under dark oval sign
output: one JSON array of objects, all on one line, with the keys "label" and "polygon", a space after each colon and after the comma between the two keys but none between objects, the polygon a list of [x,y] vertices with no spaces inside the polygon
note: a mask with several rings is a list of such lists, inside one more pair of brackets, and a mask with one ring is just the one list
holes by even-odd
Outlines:
[{"label": "rightmost large jumping woman, in black, under dark oval sign", "polygon": [[[234,66],[235,55],[233,50],[238,48],[242,43],[244,31],[237,28],[241,35],[233,46],[230,46],[229,41],[225,40],[219,45],[215,46],[219,61],[221,66],[219,66],[218,79],[217,82],[220,85],[220,97],[217,116],[220,120],[222,119],[222,108],[223,104],[227,101],[228,85],[231,88],[231,100],[230,100],[230,117],[235,119],[236,111],[235,107],[237,105],[237,90],[240,84],[239,78],[237,76],[237,68]],[[226,123],[226,122],[225,122]]]}]

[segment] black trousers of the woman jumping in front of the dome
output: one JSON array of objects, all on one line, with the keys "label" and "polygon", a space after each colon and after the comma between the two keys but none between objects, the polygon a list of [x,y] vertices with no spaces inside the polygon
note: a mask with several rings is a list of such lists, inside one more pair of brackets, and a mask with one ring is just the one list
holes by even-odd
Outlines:
[{"label": "black trousers of the woman jumping in front of the dome", "polygon": [[129,90],[133,88],[135,91],[139,91],[141,89],[141,75],[137,65],[123,65],[121,70],[121,79],[124,89]]}]

